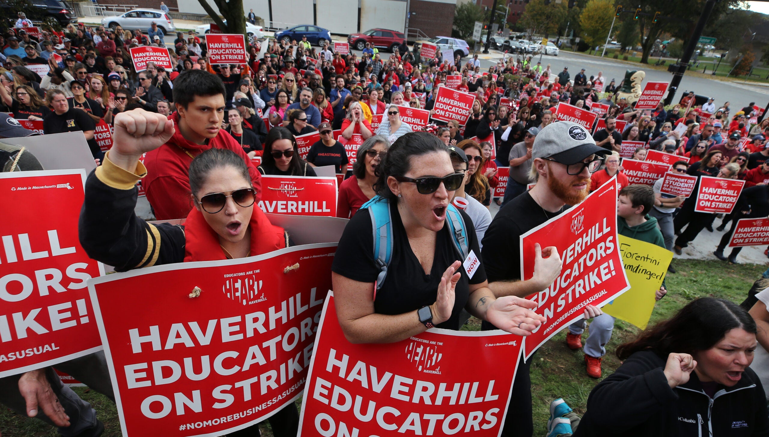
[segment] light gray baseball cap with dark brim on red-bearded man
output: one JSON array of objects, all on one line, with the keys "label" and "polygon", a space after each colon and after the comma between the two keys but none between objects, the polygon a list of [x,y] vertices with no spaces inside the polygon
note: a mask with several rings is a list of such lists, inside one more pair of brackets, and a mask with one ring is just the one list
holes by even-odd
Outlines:
[{"label": "light gray baseball cap with dark brim on red-bearded man", "polygon": [[595,145],[587,129],[571,121],[558,121],[543,127],[531,147],[532,158],[548,157],[566,165],[576,164],[593,154],[608,153]]}]

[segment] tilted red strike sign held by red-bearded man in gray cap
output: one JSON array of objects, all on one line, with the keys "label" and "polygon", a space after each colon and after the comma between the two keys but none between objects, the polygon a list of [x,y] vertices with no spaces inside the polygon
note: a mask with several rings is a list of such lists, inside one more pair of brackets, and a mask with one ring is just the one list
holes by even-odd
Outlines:
[{"label": "tilted red strike sign held by red-bearded man in gray cap", "polygon": [[521,235],[521,278],[534,276],[534,243],[561,251],[561,275],[528,296],[544,323],[524,339],[524,357],[582,318],[584,306],[603,306],[630,288],[617,241],[616,176],[587,199]]}]

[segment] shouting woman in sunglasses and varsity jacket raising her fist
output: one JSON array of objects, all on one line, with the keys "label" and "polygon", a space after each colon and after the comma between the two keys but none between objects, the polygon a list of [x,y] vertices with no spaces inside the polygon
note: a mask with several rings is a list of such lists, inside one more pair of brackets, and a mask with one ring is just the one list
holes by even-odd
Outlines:
[{"label": "shouting woman in sunglasses and varsity jacket raising her fist", "polygon": [[[213,147],[189,167],[195,205],[184,226],[153,225],[136,217],[136,182],[147,170],[142,153],[165,144],[174,122],[143,110],[115,117],[115,143],[88,175],[79,237],[90,257],[126,271],[160,264],[252,257],[288,247],[288,234],[255,207],[245,161]],[[290,404],[269,420],[275,435],[296,435],[298,412]],[[258,429],[256,434],[258,435]]]}]

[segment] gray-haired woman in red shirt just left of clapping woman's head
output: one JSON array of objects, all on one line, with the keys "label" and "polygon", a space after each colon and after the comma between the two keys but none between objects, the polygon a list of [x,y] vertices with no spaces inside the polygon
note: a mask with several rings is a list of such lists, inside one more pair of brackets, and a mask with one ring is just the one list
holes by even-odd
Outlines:
[{"label": "gray-haired woman in red shirt just left of clapping woman's head", "polygon": [[363,141],[358,148],[355,164],[352,164],[352,176],[339,185],[337,217],[351,218],[361,205],[375,196],[376,169],[388,147],[390,142],[381,135]]}]

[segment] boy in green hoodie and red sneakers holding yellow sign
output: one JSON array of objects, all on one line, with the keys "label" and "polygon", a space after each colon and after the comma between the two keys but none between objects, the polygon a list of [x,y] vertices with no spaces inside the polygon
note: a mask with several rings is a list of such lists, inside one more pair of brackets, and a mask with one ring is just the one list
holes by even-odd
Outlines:
[{"label": "boy in green hoodie and red sneakers holding yellow sign", "polygon": [[[647,213],[654,207],[654,190],[648,185],[633,184],[624,187],[620,191],[617,202],[617,232],[624,237],[646,241],[665,247],[662,233],[657,229],[657,219]],[[656,300],[662,299],[667,293],[664,282],[660,290],[654,294]],[[585,320],[578,320],[569,326],[566,334],[566,343],[569,349],[582,347],[582,333]],[[588,369],[588,376],[601,378],[601,359],[606,355],[606,346],[611,339],[611,331],[614,329],[614,317],[608,314],[594,317],[590,324],[588,339],[584,342],[584,361]]]}]

